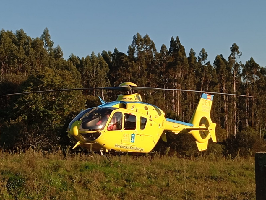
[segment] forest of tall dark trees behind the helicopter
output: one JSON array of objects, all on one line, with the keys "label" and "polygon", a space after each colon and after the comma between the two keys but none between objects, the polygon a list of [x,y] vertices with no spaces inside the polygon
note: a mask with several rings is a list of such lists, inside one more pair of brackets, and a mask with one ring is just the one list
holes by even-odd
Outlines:
[{"label": "forest of tall dark trees behind the helicopter", "polygon": [[[22,29],[0,31],[0,147],[7,150],[58,150],[73,146],[67,126],[80,110],[116,99],[118,92],[84,90],[16,96],[9,93],[78,87],[110,87],[134,82],[140,87],[201,90],[253,97],[215,95],[211,112],[217,123],[217,144],[207,153],[252,155],[266,150],[266,69],[251,57],[239,61],[242,52],[236,43],[230,55],[209,61],[204,48],[186,55],[179,37],[170,38],[169,49],[157,50],[149,35],[133,36],[126,53],[111,51],[80,58],[63,58],[54,46],[49,30],[31,38]],[[199,56],[196,56],[198,54]],[[213,58],[211,58],[213,59]],[[168,118],[189,122],[200,93],[182,91],[141,92],[144,102],[158,106]],[[159,141],[158,152],[197,154],[189,135],[168,134]],[[170,149],[170,150],[169,150]],[[79,149],[80,150],[80,149]]]}]

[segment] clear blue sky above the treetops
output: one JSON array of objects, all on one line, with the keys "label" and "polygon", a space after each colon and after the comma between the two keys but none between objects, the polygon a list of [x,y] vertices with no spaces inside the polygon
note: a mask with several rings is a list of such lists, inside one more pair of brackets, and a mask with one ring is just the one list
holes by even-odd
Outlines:
[{"label": "clear blue sky above the treetops", "polygon": [[233,43],[245,63],[253,57],[266,66],[266,1],[2,1],[0,29],[23,29],[32,38],[47,27],[64,58],[85,57],[92,51],[127,52],[137,32],[148,34],[157,51],[179,36],[188,55],[202,48],[213,63],[228,58]]}]

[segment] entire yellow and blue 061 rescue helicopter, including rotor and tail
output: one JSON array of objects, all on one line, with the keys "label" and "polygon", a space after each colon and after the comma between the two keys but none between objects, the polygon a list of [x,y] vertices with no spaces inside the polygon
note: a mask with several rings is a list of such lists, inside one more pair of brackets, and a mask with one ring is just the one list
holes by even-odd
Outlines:
[{"label": "entire yellow and blue 061 rescue helicopter, including rotor and tail", "polygon": [[[209,139],[217,142],[216,123],[210,118],[213,103],[212,94],[236,95],[220,92],[197,90],[137,87],[132,82],[124,82],[118,87],[73,88],[7,94],[21,95],[70,90],[118,90],[119,94],[112,102],[105,102],[100,97],[101,105],[81,111],[68,125],[67,135],[77,146],[93,151],[149,153],[159,139],[167,141],[166,134],[192,134],[199,151],[208,147]],[[163,110],[142,101],[137,92],[143,90],[177,90],[201,92],[202,95],[189,122],[166,118]],[[250,97],[250,96],[249,96]]]}]

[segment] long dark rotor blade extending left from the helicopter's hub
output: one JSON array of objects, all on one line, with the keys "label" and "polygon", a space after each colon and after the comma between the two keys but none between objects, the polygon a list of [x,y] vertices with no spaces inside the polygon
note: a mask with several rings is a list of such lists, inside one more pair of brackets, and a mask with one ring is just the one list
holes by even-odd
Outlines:
[{"label": "long dark rotor blade extending left from the helicopter's hub", "polygon": [[35,92],[20,92],[14,94],[6,94],[3,96],[13,96],[13,95],[24,95],[24,94],[33,94],[33,93],[47,93],[47,92],[58,92],[58,91],[72,91],[72,90],[118,90],[122,92],[131,91],[132,88],[129,85],[119,86],[119,87],[88,87],[88,88],[72,88],[72,89],[59,89],[59,90],[43,90]]}]

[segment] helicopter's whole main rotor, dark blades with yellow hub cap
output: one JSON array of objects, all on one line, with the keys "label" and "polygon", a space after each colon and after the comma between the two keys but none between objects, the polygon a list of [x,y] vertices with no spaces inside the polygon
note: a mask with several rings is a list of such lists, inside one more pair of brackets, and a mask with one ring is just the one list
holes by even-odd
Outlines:
[{"label": "helicopter's whole main rotor, dark blades with yellow hub cap", "polygon": [[6,94],[3,96],[24,95],[24,94],[33,94],[33,93],[47,93],[47,92],[61,92],[61,91],[74,91],[74,90],[117,90],[117,91],[121,91],[121,92],[139,92],[139,91],[145,91],[145,90],[171,90],[171,91],[189,91],[189,92],[201,92],[201,93],[208,93],[208,94],[222,94],[222,95],[253,97],[253,96],[249,96],[249,95],[239,95],[239,94],[200,91],[200,90],[169,89],[169,88],[156,88],[156,87],[137,87],[137,85],[132,83],[132,82],[121,83],[118,87],[89,87],[89,88],[71,88],[71,89],[59,89],[59,90],[43,90],[43,91],[34,91],[34,92],[20,92],[20,93]]}]

